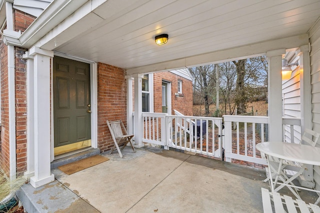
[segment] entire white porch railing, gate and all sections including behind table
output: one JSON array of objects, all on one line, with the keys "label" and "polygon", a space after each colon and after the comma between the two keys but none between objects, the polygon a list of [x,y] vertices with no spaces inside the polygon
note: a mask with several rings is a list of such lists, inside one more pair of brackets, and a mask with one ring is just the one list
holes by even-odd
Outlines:
[{"label": "entire white porch railing, gate and all sections including behind table", "polygon": [[[255,145],[267,141],[268,117],[224,115],[223,121],[222,135],[222,118],[145,112],[142,113],[142,142],[220,159],[224,149],[227,162],[234,159],[266,165]],[[286,142],[300,138],[300,118],[282,118],[282,124]]]}]

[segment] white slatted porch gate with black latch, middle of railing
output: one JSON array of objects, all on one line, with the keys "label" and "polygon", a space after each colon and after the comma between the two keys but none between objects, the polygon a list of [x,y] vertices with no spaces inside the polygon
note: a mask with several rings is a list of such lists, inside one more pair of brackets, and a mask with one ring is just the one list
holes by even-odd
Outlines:
[{"label": "white slatted porch gate with black latch, middle of railing", "polygon": [[166,116],[169,147],[222,158],[222,118]]}]

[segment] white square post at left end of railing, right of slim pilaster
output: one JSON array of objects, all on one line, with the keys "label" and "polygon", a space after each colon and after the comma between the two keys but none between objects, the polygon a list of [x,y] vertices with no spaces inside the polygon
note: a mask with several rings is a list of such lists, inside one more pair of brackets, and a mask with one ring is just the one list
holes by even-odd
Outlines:
[{"label": "white square post at left end of railing, right of slim pilaster", "polygon": [[142,74],[134,74],[134,147],[142,147]]}]

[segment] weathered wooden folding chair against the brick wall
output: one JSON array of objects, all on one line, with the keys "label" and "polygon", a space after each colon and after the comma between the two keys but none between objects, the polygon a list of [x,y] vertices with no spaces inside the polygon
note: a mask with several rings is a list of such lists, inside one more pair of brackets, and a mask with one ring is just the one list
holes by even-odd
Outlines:
[{"label": "weathered wooden folding chair against the brick wall", "polygon": [[132,150],[133,150],[133,152],[135,152],[133,144],[131,142],[133,135],[128,135],[126,133],[126,130],[124,128],[122,121],[121,120],[106,121],[106,123],[109,127],[112,139],[114,141],[114,146],[112,147],[110,154],[116,148],[119,153],[120,158],[122,158],[122,154],[121,154],[119,147],[122,147],[121,149],[123,150],[123,148],[127,145],[127,143],[131,144]]}]

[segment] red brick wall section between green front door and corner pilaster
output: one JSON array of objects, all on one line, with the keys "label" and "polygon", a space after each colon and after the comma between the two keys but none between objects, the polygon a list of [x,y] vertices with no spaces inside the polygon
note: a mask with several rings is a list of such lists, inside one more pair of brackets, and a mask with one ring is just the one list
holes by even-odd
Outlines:
[{"label": "red brick wall section between green front door and corner pilaster", "polygon": [[122,120],[126,127],[125,71],[108,64],[97,64],[98,80],[98,148],[105,152],[113,147],[107,120]]}]

